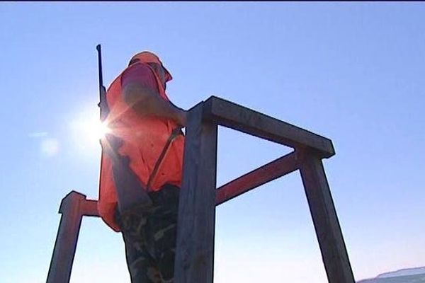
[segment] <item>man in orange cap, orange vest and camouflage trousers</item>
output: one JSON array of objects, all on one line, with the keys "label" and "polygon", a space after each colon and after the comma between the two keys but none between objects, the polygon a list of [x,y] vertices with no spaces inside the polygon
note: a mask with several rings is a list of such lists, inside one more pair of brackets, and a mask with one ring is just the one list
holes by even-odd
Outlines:
[{"label": "man in orange cap, orange vest and camouflage trousers", "polygon": [[180,129],[186,125],[186,111],[166,96],[166,83],[171,79],[155,54],[140,52],[106,93],[110,108],[106,121],[120,141],[114,152],[128,158],[127,170],[140,183],[138,190],[152,200],[149,207],[119,211],[116,189],[123,184],[113,171],[116,161],[105,153],[113,147],[110,139],[103,139],[98,212],[108,226],[123,233],[133,283],[173,282],[183,166]]}]

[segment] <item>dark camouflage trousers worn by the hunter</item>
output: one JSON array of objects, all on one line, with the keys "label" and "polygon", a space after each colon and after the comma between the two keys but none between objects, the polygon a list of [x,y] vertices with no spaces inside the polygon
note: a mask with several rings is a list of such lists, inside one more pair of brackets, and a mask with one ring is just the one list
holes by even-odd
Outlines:
[{"label": "dark camouflage trousers worn by the hunter", "polygon": [[153,207],[116,215],[132,283],[171,283],[176,253],[179,187],[149,192]]}]

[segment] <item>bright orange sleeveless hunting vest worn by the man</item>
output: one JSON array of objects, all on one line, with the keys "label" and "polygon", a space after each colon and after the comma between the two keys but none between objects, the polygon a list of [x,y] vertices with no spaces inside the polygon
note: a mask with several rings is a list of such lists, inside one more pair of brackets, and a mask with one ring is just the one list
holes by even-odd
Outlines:
[{"label": "bright orange sleeveless hunting vest worn by the man", "polygon": [[[130,68],[137,68],[139,64],[132,64]],[[149,67],[149,65],[145,64]],[[139,66],[140,67],[140,66]],[[152,70],[157,81],[157,91],[162,98],[169,100],[164,87],[157,74]],[[123,71],[124,73],[124,71]],[[134,171],[143,187],[146,187],[149,176],[152,173],[155,163],[159,158],[167,139],[169,139],[173,129],[177,127],[176,122],[160,117],[140,117],[125,103],[121,89],[121,73],[109,86],[106,93],[106,100],[110,113],[106,118],[107,125],[112,133],[120,137],[123,145],[120,146],[118,154],[130,158],[130,168]],[[101,141],[103,149],[108,146],[108,141]],[[169,183],[181,187],[181,172],[183,166],[183,144],[184,137],[179,135],[174,139],[167,151],[162,165],[157,171],[156,177],[152,181],[151,191],[160,190],[162,185]],[[114,214],[117,206],[117,193],[113,180],[111,158],[105,152],[102,153],[101,177],[99,184],[98,213],[103,221],[113,230],[120,231],[120,227],[115,223]]]}]

